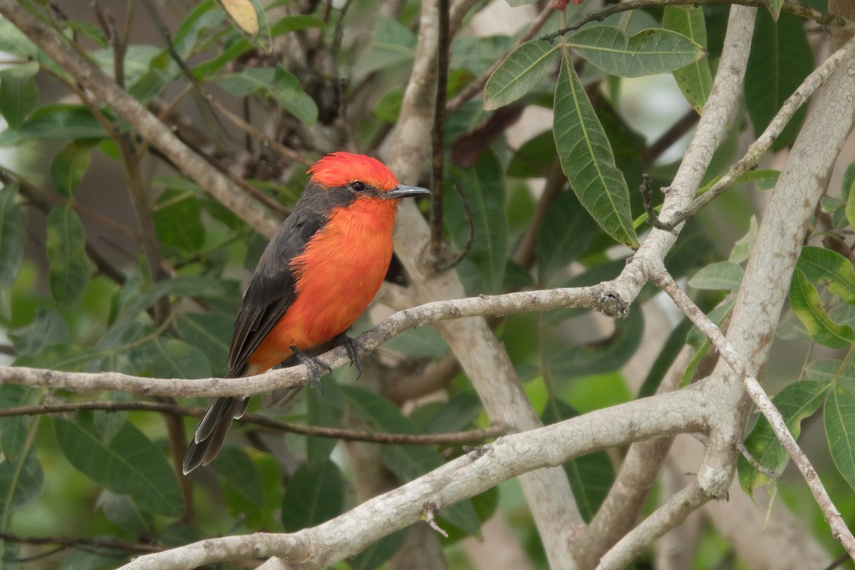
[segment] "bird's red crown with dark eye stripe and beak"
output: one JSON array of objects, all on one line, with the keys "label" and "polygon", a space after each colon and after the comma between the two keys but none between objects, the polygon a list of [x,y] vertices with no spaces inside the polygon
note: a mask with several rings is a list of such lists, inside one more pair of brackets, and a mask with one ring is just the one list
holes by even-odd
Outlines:
[{"label": "bird's red crown with dark eye stripe and beak", "polygon": [[396,200],[430,194],[426,188],[398,183],[392,171],[373,156],[333,152],[309,169],[312,180],[327,188],[349,188],[355,194]]}]

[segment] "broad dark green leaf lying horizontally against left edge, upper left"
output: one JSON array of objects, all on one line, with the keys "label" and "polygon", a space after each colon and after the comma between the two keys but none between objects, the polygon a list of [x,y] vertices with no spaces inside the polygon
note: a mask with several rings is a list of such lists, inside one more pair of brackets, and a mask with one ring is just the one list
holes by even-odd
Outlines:
[{"label": "broad dark green leaf lying horizontally against left edge, upper left", "polygon": [[89,109],[55,103],[33,111],[18,128],[0,132],[0,147],[21,146],[33,140],[104,138],[103,126]]}]

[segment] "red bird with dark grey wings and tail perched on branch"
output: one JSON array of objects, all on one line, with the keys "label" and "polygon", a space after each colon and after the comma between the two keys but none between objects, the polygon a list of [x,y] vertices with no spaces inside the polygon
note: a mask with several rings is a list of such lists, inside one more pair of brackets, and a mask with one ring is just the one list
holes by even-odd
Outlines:
[{"label": "red bird with dark grey wings and tail perched on branch", "polygon": [[[226,378],[260,374],[294,356],[317,379],[318,364],[305,351],[332,340],[345,343],[358,364],[357,347],[345,332],[386,277],[398,203],[430,193],[398,184],[375,158],[347,152],[324,156],[309,173],[303,195],[246,288]],[[215,398],[184,457],[185,474],[213,461],[247,403]]]}]

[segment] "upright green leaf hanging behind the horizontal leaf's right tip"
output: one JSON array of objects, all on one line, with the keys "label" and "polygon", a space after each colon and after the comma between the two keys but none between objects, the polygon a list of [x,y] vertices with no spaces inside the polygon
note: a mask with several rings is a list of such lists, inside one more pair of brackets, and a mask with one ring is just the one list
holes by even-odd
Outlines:
[{"label": "upright green leaf hanging behind the horizontal leaf's right tip", "polygon": [[[693,42],[706,47],[706,22],[704,9],[700,6],[666,6],[663,27],[672,32],[681,33]],[[712,90],[712,72],[710,60],[703,57],[673,72],[677,85],[692,108],[699,115],[704,112],[707,97]]]}]

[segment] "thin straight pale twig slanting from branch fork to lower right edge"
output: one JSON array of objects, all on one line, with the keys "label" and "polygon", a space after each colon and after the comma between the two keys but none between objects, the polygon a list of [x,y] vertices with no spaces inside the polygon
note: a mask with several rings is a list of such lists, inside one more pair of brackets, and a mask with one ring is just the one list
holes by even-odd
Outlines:
[{"label": "thin straight pale twig slanting from branch fork to lower right edge", "polygon": [[769,420],[769,426],[775,432],[775,437],[781,443],[781,446],[787,450],[787,454],[793,459],[793,464],[799,468],[799,472],[805,478],[808,488],[814,500],[823,511],[825,520],[828,521],[828,526],[834,534],[834,538],[843,544],[846,552],[855,557],[855,537],[846,526],[846,521],[840,516],[840,511],[834,506],[831,497],[828,497],[828,491],[825,490],[823,482],[819,479],[817,470],[811,465],[811,461],[805,455],[805,452],[799,448],[799,444],[793,438],[787,428],[787,422],[781,417],[781,413],[775,408],[775,404],[769,398],[769,395],[763,390],[763,387],[758,382],[752,373],[748,371],[746,365],[740,359],[739,353],[724,336],[721,329],[710,320],[703,311],[701,311],[691,298],[677,285],[674,278],[661,267],[657,273],[651,275],[651,280],[665,291],[671,299],[674,300],[683,314],[692,320],[695,326],[705,333],[710,342],[716,347],[722,358],[727,361],[728,365],[734,373],[740,377],[746,392],[751,397],[754,404],[760,412]]}]

